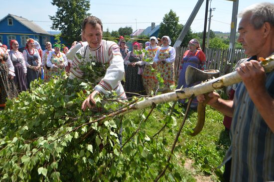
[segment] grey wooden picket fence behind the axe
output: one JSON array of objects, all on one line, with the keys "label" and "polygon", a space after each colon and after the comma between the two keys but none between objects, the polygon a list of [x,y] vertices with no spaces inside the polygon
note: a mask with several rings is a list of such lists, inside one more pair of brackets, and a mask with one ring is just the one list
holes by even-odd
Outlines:
[{"label": "grey wooden picket fence behind the axe", "polygon": [[[174,76],[175,80],[179,77],[179,68],[184,52],[188,50],[187,47],[176,48],[176,59],[174,62]],[[243,49],[214,49],[209,48],[205,51],[206,68],[220,70],[221,76],[232,72],[233,66],[243,58],[246,58]]]}]

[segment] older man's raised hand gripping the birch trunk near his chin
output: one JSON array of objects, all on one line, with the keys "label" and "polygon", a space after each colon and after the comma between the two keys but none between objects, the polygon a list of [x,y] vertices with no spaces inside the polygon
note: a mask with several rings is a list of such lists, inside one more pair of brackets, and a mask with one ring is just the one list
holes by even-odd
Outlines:
[{"label": "older man's raised hand gripping the birch trunk near his chin", "polygon": [[260,92],[265,89],[266,74],[264,68],[258,61],[251,60],[241,63],[237,68],[249,93],[251,91]]}]

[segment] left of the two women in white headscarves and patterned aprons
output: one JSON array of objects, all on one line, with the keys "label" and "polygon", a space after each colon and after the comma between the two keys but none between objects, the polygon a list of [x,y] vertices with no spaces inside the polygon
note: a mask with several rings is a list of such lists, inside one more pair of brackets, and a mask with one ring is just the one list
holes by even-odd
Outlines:
[{"label": "left of the two women in white headscarves and patterned aprons", "polygon": [[[148,51],[146,58],[154,60],[154,57],[156,55],[156,52],[158,49],[160,49],[160,46],[157,46],[158,40],[156,37],[150,37],[150,45],[145,47],[145,50]],[[156,63],[153,62],[152,65],[145,62],[145,66],[143,69],[143,75],[142,75],[142,81],[143,81],[143,87],[145,89],[146,94],[150,95],[151,91],[156,91],[158,88],[158,81],[155,77],[155,72],[151,72],[151,69],[156,69]]]}]

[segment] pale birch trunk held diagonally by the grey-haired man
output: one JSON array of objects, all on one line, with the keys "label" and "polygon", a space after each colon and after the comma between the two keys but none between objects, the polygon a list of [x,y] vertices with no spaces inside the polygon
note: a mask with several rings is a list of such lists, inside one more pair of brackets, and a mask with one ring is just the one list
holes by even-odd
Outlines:
[{"label": "pale birch trunk held diagonally by the grey-haired man", "polygon": [[[266,65],[262,65],[265,69],[266,73],[274,71],[274,60],[272,59],[269,61]],[[218,77],[216,79],[212,79],[210,81],[201,83],[199,85],[190,87],[190,88],[184,88],[184,89],[178,89],[173,92],[164,93],[160,95],[156,95],[154,97],[147,98],[145,100],[139,101],[133,105],[131,105],[126,112],[129,112],[129,110],[135,110],[135,109],[143,109],[146,107],[151,106],[152,104],[159,104],[169,101],[175,101],[178,99],[188,98],[191,95],[200,95],[204,94],[210,91],[221,89],[224,86],[230,86],[233,84],[237,84],[241,82],[242,79],[240,75],[237,73],[237,71],[229,73],[227,75],[223,75],[221,77]],[[123,113],[123,114],[124,114]]]}]

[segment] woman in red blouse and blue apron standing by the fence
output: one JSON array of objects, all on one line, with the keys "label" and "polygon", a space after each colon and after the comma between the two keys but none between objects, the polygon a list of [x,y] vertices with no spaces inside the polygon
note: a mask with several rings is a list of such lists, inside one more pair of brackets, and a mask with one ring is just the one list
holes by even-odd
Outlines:
[{"label": "woman in red blouse and blue apron standing by the fence", "polygon": [[[191,39],[188,43],[188,49],[185,51],[183,55],[183,59],[180,66],[180,75],[178,79],[178,87],[177,89],[192,87],[192,85],[186,85],[185,81],[185,71],[188,66],[193,66],[200,70],[206,69],[206,57],[204,52],[201,50],[201,46],[197,39]],[[196,83],[199,84],[199,83]],[[185,104],[185,99],[179,100],[179,102]],[[198,101],[194,98],[191,102],[190,107],[196,109],[198,105]]]}]

